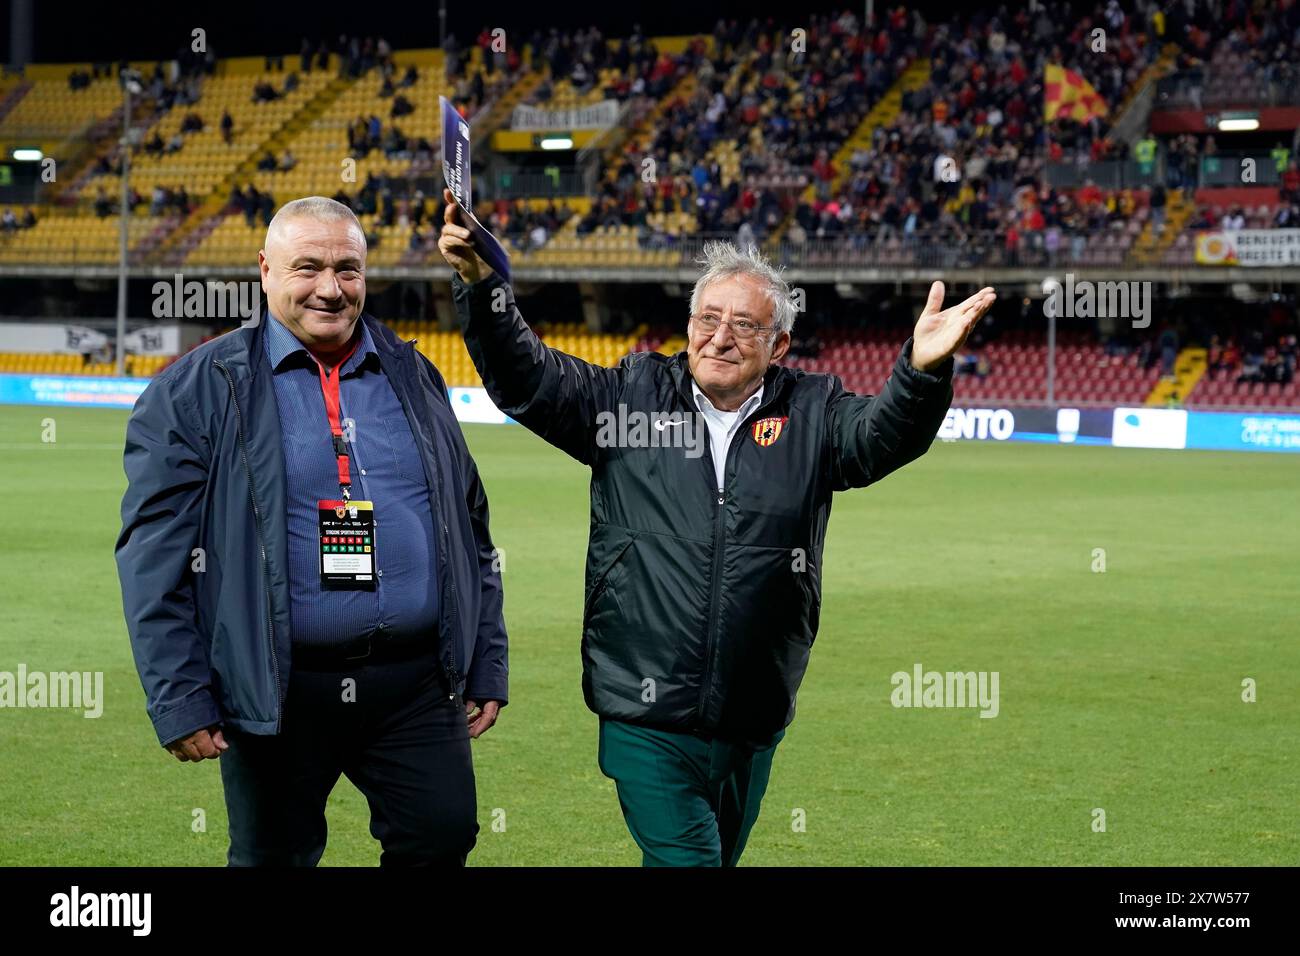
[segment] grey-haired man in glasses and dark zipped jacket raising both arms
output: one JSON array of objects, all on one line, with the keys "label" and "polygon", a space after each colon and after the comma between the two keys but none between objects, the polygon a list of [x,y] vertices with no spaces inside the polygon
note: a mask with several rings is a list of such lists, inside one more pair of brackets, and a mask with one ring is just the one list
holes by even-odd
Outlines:
[{"label": "grey-haired man in glasses and dark zipped jacket raising both arms", "polygon": [[603,368],[538,339],[445,198],[438,246],[488,394],[592,468],[582,692],[601,770],[646,865],[733,865],[816,636],[831,496],[926,453],[993,290],[940,311],[935,282],[881,393],[855,395],[780,364],[789,287],[708,243],[686,351]]}]

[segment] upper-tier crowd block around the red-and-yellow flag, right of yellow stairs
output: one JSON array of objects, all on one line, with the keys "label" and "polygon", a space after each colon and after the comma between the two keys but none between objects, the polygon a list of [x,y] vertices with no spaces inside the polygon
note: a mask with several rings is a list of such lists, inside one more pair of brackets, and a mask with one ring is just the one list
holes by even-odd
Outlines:
[{"label": "upper-tier crowd block around the red-and-yellow flag, right of yellow stairs", "polygon": [[[1041,118],[1045,66],[1083,75],[1118,107],[1158,53],[1154,8],[1126,13],[1112,1],[1079,17],[1063,4],[1002,7],[926,26],[928,82],[904,94],[897,118],[846,169],[814,170],[814,199],[798,204],[788,238],[1001,247],[1010,261],[1082,255],[1088,234],[1122,229],[1145,198],[1086,178],[1048,185],[1049,163],[1086,168],[1119,150],[1100,117]],[[1091,53],[1095,30],[1108,56]]]}]

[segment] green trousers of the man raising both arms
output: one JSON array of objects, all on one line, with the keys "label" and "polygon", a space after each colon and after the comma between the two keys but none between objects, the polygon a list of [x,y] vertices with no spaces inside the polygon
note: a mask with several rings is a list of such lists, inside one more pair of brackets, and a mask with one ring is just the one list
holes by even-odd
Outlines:
[{"label": "green trousers of the man raising both arms", "polygon": [[758,750],[601,718],[601,773],[644,866],[734,866],[758,819],[779,731]]}]

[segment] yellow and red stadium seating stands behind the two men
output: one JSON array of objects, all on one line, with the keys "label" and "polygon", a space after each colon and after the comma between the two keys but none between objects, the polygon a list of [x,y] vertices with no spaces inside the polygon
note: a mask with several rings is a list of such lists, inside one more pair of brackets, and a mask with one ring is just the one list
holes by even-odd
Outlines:
[{"label": "yellow and red stadium seating stands behind the two men", "polygon": [[[1260,103],[1295,104],[1300,23],[1296,5],[1284,7],[1271,20],[1243,3],[1108,0],[1067,17],[1049,3],[940,22],[896,7],[870,27],[846,10],[803,23],[723,20],[681,36],[550,31],[507,49],[485,29],[443,49],[350,38],[333,48],[304,40],[299,56],[131,64],[143,91],[133,112],[130,263],[248,267],[280,203],[324,194],[358,212],[377,276],[428,274],[441,267],[438,98],[447,96],[472,120],[476,150],[508,131],[517,104],[618,104],[616,127],[584,147],[594,163],[582,189],[478,191],[480,217],[525,273],[634,269],[653,281],[689,268],[708,237],[811,271],[1204,268],[1206,233],[1300,224],[1294,143],[1253,143],[1268,176],[1243,189],[1222,182],[1245,155],[1222,137],[1126,120],[1143,117],[1143,92],[1156,111],[1231,104],[1243,88]],[[1106,56],[1088,55],[1096,30]],[[1046,120],[1049,66],[1109,111]],[[121,125],[110,68],[46,64],[0,81],[0,144],[60,163],[38,202],[0,217],[0,269],[117,263]],[[432,321],[395,326],[448,384],[477,384],[454,333]],[[1294,328],[1294,312],[1260,341],[1223,328],[1222,346],[1197,329],[1182,349],[1157,330],[1117,347],[1101,328],[1066,329],[1056,397],[1296,407]],[[552,326],[547,336],[602,364],[684,345],[680,330],[645,328]],[[792,364],[874,392],[898,329],[819,337]],[[0,371],[104,372],[94,358],[6,354]],[[957,401],[1040,401],[1046,360],[1041,332],[980,342],[963,356]],[[131,371],[151,375],[164,362],[133,356]]]}]

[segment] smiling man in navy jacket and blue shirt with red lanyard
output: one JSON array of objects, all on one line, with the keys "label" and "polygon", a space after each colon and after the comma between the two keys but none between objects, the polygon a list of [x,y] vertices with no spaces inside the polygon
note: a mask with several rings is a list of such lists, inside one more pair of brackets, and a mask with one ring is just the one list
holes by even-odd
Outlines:
[{"label": "smiling man in navy jacket and blue shirt with red lanyard", "polygon": [[384,865],[463,864],[469,739],[507,698],[488,498],[438,371],[364,313],[318,196],[259,255],[266,311],[160,373],[126,429],[117,564],[159,741],[221,758],[231,865],[315,865],[341,774]]}]

